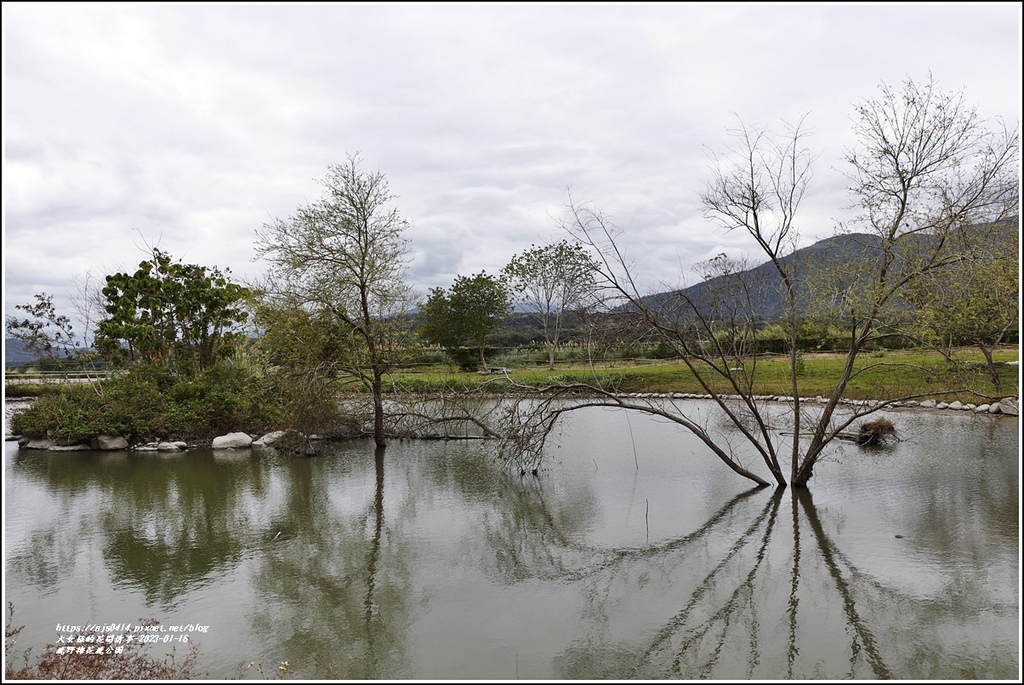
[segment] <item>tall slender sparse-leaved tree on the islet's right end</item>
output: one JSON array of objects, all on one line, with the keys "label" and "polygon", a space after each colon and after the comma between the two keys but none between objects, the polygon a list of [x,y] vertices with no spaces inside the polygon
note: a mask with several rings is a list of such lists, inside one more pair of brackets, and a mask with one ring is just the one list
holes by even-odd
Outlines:
[{"label": "tall slender sparse-leaved tree on the islet's right end", "polygon": [[387,177],[366,172],[358,155],[332,165],[324,196],[256,233],[256,251],[273,267],[271,295],[329,316],[352,339],[345,371],[371,393],[374,440],[385,446],[384,376],[408,334],[413,297],[404,281],[409,222],[391,206]]}]

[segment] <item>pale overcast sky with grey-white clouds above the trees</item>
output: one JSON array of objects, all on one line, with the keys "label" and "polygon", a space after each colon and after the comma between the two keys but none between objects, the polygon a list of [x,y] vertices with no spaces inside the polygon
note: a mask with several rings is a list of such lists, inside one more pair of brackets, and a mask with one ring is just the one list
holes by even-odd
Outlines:
[{"label": "pale overcast sky with grey-white clouds above the trees", "polygon": [[854,106],[885,83],[963,89],[1020,121],[1021,4],[4,2],[4,314],[158,247],[267,269],[256,231],[357,154],[411,222],[422,294],[551,243],[569,194],[645,290],[717,254],[711,153],[801,118],[819,154],[804,245],[848,218]]}]

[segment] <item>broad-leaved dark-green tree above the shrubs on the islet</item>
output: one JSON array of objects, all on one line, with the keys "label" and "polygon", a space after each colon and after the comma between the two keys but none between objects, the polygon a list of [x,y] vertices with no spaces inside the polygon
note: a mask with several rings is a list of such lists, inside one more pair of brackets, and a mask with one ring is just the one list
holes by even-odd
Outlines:
[{"label": "broad-leaved dark-green tree above the shrubs on the islet", "polygon": [[234,328],[249,314],[247,289],[228,274],[154,249],[134,273],[106,276],[97,346],[115,358],[173,366],[185,375],[230,356],[241,338]]}]

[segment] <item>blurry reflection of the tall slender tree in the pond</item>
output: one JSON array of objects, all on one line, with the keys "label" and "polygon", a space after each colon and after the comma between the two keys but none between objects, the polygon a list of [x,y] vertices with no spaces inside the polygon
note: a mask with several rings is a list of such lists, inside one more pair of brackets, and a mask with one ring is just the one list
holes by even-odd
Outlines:
[{"label": "blurry reflection of the tall slender tree in the pond", "polygon": [[283,537],[254,574],[267,600],[251,615],[255,630],[293,662],[314,665],[314,678],[366,680],[409,668],[411,559],[395,534],[400,509],[390,508],[394,523],[385,516],[384,451],[373,461],[372,488],[346,488],[338,495],[345,502],[315,461],[296,462],[274,519]]}]

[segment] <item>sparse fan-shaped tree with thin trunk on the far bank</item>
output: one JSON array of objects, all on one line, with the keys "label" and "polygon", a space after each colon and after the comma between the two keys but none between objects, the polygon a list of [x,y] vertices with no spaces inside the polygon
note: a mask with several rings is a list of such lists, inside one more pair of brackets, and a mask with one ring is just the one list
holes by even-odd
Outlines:
[{"label": "sparse fan-shaped tree with thin trunk on the far bank", "polygon": [[503,269],[512,291],[523,298],[544,335],[548,369],[555,368],[555,350],[566,315],[592,302],[597,263],[580,243],[561,241],[531,246],[512,257]]}]

